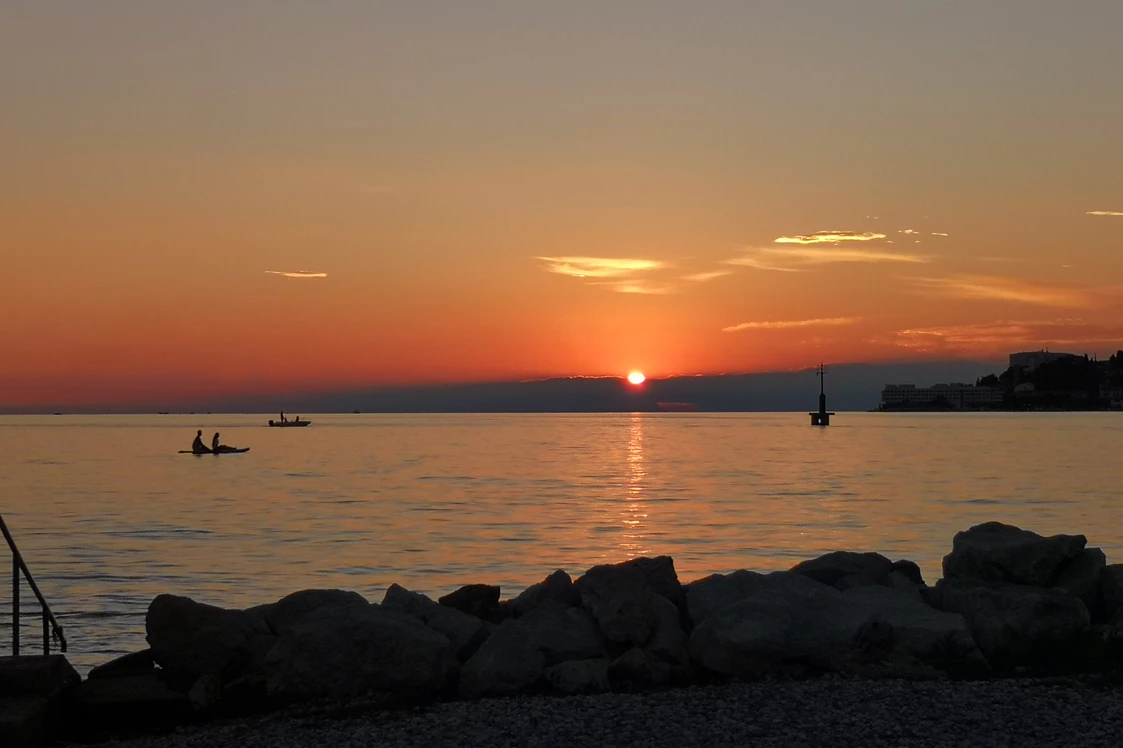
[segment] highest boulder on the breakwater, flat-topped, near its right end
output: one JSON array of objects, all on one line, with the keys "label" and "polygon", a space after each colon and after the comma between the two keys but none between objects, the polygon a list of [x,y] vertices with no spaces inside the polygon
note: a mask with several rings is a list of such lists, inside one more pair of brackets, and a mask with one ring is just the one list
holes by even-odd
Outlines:
[{"label": "highest boulder on the breakwater, flat-topped, near its right end", "polygon": [[943,557],[943,576],[1048,587],[1085,545],[1083,535],[1043,538],[1011,524],[986,522],[956,533],[951,553]]}]

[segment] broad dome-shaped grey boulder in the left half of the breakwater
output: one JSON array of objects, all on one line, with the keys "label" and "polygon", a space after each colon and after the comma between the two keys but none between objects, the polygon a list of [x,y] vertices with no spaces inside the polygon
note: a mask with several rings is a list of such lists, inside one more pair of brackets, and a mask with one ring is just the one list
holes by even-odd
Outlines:
[{"label": "broad dome-shaped grey boulder in the left half of the breakwater", "polygon": [[369,692],[433,695],[456,679],[455,648],[414,617],[377,605],[304,618],[265,658],[271,697],[343,697]]}]

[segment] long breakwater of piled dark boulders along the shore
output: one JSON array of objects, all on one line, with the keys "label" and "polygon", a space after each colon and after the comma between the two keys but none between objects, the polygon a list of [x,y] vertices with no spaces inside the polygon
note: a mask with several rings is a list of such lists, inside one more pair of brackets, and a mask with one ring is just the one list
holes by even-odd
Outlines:
[{"label": "long breakwater of piled dark boulders along the shore", "polygon": [[[1084,536],[990,522],[959,532],[943,578],[876,553],[681,583],[672,558],[557,571],[517,596],[473,584],[381,602],[305,590],[226,610],[159,595],[149,649],[90,673],[76,724],[246,713],[294,702],[417,703],[841,674],[980,678],[1115,668],[1123,566]],[[115,711],[116,710],[116,711]]]}]

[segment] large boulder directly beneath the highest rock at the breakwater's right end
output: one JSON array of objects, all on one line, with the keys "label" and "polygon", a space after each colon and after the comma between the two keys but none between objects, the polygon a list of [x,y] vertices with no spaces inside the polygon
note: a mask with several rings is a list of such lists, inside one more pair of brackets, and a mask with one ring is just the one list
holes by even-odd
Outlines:
[{"label": "large boulder directly beneath the highest rock at the breakwater's right end", "polygon": [[940,580],[934,600],[940,610],[967,620],[996,669],[1056,664],[1090,635],[1084,603],[1057,590]]}]

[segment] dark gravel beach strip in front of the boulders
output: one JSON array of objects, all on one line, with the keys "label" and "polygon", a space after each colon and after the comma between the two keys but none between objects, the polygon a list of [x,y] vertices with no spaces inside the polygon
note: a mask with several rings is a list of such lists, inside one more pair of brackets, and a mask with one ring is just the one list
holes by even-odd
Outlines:
[{"label": "dark gravel beach strip in front of the boulders", "polygon": [[821,679],[454,702],[181,728],[126,748],[1123,746],[1123,686]]}]

